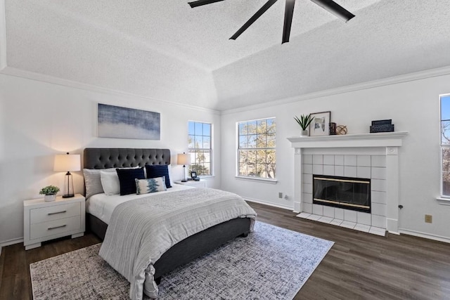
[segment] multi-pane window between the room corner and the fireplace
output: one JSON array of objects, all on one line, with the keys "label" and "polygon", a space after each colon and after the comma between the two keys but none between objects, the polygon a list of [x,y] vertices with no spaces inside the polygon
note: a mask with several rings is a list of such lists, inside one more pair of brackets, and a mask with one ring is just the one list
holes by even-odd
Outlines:
[{"label": "multi-pane window between the room corner and the fireplace", "polygon": [[238,122],[238,176],[275,179],[275,118]]}]

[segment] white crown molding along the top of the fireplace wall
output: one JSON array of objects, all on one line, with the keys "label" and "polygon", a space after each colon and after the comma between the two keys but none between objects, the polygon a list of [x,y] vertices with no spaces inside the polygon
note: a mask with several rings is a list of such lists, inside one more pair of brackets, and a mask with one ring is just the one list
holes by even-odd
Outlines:
[{"label": "white crown molding along the top of the fireplace wall", "polygon": [[278,99],[278,100],[272,100],[269,102],[265,102],[265,103],[259,103],[259,104],[255,104],[255,105],[248,105],[248,106],[243,106],[243,107],[238,107],[238,108],[231,108],[230,110],[222,110],[221,111],[221,115],[229,115],[229,114],[233,114],[236,112],[245,112],[248,110],[257,110],[259,108],[264,108],[264,107],[271,107],[274,105],[283,105],[283,104],[288,104],[288,103],[295,103],[298,101],[303,101],[303,100],[309,100],[309,99],[314,99],[314,98],[321,98],[321,97],[326,97],[326,96],[333,96],[333,95],[338,95],[340,93],[349,93],[352,91],[361,91],[364,89],[373,89],[379,86],[388,86],[391,84],[400,84],[400,83],[404,83],[404,82],[409,82],[409,81],[415,81],[415,80],[420,80],[420,79],[426,79],[426,78],[431,78],[431,77],[439,77],[439,76],[443,76],[443,75],[448,75],[450,74],[450,66],[446,66],[446,67],[439,67],[439,68],[435,68],[435,69],[430,69],[430,70],[425,70],[425,71],[420,71],[420,72],[413,72],[413,73],[409,73],[409,74],[403,74],[403,75],[399,75],[399,76],[395,76],[395,77],[387,77],[384,79],[378,79],[378,80],[373,80],[373,81],[366,81],[360,84],[352,84],[349,86],[341,86],[335,89],[328,89],[328,90],[324,90],[324,91],[318,91],[318,92],[314,92],[314,93],[307,93],[301,96],[293,96],[293,97],[289,97],[289,98],[283,98],[283,99]]}]

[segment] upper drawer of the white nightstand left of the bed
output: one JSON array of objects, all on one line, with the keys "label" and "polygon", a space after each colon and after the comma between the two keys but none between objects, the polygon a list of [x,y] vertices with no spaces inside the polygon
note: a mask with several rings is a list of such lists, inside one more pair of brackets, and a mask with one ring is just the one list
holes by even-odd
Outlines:
[{"label": "upper drawer of the white nightstand left of the bed", "polygon": [[81,214],[81,204],[57,204],[51,207],[30,209],[30,224],[70,218]]}]

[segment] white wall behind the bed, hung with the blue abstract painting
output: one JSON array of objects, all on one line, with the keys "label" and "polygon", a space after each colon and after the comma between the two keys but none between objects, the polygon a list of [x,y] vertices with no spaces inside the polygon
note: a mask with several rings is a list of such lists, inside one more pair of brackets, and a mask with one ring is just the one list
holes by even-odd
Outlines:
[{"label": "white wall behind the bed, hung with the blue abstract painting", "polygon": [[[97,103],[161,113],[161,140],[96,137]],[[45,185],[63,187],[63,173],[53,172],[53,155],[82,154],[86,147],[169,148],[187,150],[188,120],[214,124],[220,115],[184,105],[115,93],[99,93],[0,74],[0,245],[23,237],[23,200],[37,198]],[[220,139],[214,139],[214,168],[220,168]],[[174,166],[176,180],[182,167]],[[219,188],[217,174],[207,182]],[[75,192],[83,192],[82,172],[74,172]]]}]

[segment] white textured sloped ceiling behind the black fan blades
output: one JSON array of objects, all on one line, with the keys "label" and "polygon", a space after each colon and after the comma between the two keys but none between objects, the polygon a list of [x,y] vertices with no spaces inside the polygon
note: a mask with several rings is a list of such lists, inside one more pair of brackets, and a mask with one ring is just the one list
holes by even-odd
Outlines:
[{"label": "white textured sloped ceiling behind the black fan blades", "polygon": [[8,67],[213,110],[450,65],[447,0],[297,0],[283,45],[283,0],[236,41],[266,0],[4,1]]}]

